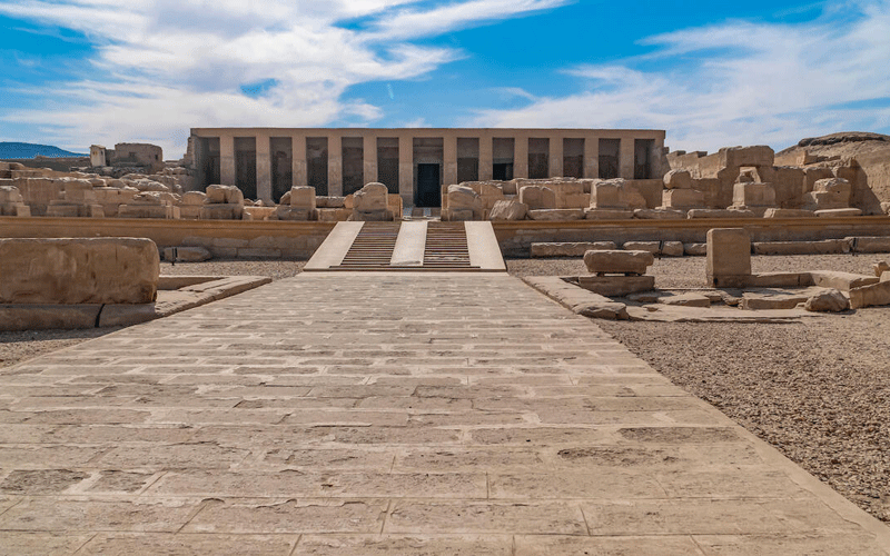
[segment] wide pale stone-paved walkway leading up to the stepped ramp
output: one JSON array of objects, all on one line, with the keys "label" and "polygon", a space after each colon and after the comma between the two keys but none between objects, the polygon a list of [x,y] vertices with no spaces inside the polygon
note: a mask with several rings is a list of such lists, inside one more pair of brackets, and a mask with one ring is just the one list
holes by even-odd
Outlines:
[{"label": "wide pale stone-paved walkway leading up to the stepped ramp", "polygon": [[0,554],[888,554],[518,279],[303,274],[0,371]]}]

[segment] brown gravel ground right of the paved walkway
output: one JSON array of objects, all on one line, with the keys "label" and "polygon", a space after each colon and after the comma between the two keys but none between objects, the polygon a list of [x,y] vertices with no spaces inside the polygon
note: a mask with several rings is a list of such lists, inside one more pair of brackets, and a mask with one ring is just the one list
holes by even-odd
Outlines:
[{"label": "brown gravel ground right of the paved walkway", "polygon": [[[753,257],[752,268],[871,275],[888,255]],[[586,274],[581,260],[507,261],[515,275]],[[704,257],[665,258],[661,288],[704,285]],[[890,522],[890,308],[785,325],[596,324],[879,519]]]}]

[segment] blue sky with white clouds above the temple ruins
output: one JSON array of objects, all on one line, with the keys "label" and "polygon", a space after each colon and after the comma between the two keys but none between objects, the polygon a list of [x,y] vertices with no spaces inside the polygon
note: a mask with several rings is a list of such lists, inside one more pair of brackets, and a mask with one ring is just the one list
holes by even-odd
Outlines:
[{"label": "blue sky with white clouds above the temple ruins", "polygon": [[198,127],[890,133],[890,0],[0,0],[0,141]]}]

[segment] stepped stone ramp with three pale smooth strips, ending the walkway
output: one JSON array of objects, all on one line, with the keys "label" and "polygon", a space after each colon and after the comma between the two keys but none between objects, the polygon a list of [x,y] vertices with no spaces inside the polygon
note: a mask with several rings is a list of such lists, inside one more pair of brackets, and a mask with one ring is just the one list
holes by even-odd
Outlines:
[{"label": "stepped stone ramp with three pale smooth strips, ending the walkway", "polygon": [[506,271],[491,222],[338,222],[307,271]]}]

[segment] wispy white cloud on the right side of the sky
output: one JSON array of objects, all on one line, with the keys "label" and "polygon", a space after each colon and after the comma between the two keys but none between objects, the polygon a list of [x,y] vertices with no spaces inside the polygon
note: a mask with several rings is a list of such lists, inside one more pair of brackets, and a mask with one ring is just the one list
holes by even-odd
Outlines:
[{"label": "wispy white cloud on the right side of the sky", "polygon": [[[890,2],[844,3],[808,23],[729,21],[641,41],[645,57],[568,68],[580,92],[469,126],[657,128],[675,149],[792,145],[804,136],[887,130]],[[655,69],[652,69],[652,68]],[[882,100],[881,100],[882,99]],[[879,108],[863,108],[863,106]]]}]

